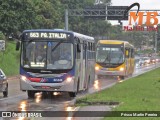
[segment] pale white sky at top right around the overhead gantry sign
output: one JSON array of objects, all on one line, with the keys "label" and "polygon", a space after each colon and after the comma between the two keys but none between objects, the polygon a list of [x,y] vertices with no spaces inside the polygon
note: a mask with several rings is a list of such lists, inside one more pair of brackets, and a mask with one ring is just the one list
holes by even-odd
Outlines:
[{"label": "pale white sky at top right around the overhead gantry sign", "polygon": [[[160,10],[160,0],[111,0],[111,6],[130,6],[131,4],[138,2],[140,4],[140,10]],[[133,9],[137,9],[134,7]],[[160,13],[160,11],[159,11]],[[160,16],[158,17],[160,21]],[[113,25],[119,24],[117,21],[110,21]],[[127,24],[128,21],[122,21],[123,24]]]}]

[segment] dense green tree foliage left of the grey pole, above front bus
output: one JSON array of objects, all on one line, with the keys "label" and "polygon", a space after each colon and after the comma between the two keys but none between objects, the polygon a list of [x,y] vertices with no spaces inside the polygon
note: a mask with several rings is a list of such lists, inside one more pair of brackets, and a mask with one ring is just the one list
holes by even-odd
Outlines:
[{"label": "dense green tree foliage left of the grey pole, above front bus", "polygon": [[0,30],[9,36],[17,35],[25,29],[58,28],[62,24],[61,8],[59,1],[51,3],[49,0],[2,0]]}]

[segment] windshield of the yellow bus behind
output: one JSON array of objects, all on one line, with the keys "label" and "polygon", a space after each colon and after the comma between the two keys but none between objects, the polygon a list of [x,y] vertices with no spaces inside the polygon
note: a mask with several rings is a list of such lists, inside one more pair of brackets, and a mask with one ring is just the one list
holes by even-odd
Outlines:
[{"label": "windshield of the yellow bus behind", "polygon": [[96,62],[120,64],[124,62],[122,45],[99,45],[97,47]]}]

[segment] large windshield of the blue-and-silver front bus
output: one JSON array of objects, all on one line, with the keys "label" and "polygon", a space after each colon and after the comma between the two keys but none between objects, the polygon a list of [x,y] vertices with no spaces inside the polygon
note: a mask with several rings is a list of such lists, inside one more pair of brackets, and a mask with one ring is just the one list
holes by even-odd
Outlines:
[{"label": "large windshield of the blue-and-silver front bus", "polygon": [[30,69],[71,69],[73,44],[59,41],[23,42],[21,65]]}]

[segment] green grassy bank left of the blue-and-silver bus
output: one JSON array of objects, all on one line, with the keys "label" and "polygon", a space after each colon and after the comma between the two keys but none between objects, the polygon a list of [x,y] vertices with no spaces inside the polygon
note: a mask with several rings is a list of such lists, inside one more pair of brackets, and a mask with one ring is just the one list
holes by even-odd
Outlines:
[{"label": "green grassy bank left of the blue-and-silver bus", "polygon": [[17,75],[19,73],[19,51],[15,50],[14,41],[6,42],[6,50],[0,51],[0,68],[7,76]]}]

